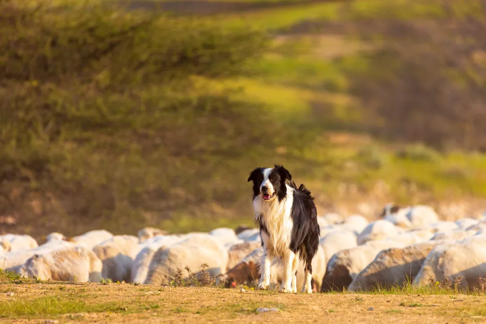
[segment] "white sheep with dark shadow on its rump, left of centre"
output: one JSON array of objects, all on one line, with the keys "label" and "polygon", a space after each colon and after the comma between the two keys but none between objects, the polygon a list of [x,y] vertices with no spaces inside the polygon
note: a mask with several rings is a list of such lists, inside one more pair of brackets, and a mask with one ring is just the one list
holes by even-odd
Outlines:
[{"label": "white sheep with dark shadow on its rump, left of centre", "polygon": [[93,252],[103,262],[104,279],[130,282],[133,260],[139,253],[139,238],[115,235],[93,247]]}]

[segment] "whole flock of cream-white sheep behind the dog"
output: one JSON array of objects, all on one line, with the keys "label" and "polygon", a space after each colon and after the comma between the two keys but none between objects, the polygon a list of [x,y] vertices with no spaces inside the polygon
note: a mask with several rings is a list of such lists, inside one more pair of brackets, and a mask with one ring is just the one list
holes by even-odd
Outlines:
[{"label": "whole flock of cream-white sheep behind the dog", "polygon": [[[385,208],[373,222],[335,213],[320,216],[318,222],[320,247],[312,260],[315,291],[369,290],[410,281],[426,285],[431,280],[456,281],[467,290],[486,277],[486,217],[440,221],[433,208],[416,205]],[[138,237],[105,230],[72,238],[51,233],[42,245],[28,235],[0,236],[0,268],[55,281],[169,285],[178,270],[189,268],[197,277],[206,264],[207,275],[231,287],[258,282],[261,254],[258,229],[245,226],[188,234],[143,228]],[[297,285],[303,282],[302,268],[301,262]],[[281,272],[273,269],[274,283],[280,282]],[[182,272],[181,279],[189,275]]]}]

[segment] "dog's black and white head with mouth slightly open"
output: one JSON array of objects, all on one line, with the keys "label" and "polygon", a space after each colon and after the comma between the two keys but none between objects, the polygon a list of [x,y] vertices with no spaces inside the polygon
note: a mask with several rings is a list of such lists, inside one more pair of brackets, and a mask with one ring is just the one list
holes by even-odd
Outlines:
[{"label": "dog's black and white head with mouth slightly open", "polygon": [[253,181],[253,199],[261,195],[264,201],[285,198],[286,181],[292,180],[290,172],[281,165],[274,168],[256,168],[251,171],[248,182]]}]

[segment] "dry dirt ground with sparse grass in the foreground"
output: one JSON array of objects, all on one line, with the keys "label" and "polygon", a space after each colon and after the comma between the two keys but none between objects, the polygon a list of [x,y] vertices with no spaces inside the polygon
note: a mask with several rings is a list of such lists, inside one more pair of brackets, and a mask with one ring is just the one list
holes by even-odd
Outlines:
[{"label": "dry dirt ground with sparse grass in the foreground", "polygon": [[[13,293],[13,295],[12,295]],[[259,307],[278,311],[259,313]],[[54,321],[54,322],[52,322]],[[473,323],[486,297],[280,294],[130,284],[4,284],[1,323]]]}]

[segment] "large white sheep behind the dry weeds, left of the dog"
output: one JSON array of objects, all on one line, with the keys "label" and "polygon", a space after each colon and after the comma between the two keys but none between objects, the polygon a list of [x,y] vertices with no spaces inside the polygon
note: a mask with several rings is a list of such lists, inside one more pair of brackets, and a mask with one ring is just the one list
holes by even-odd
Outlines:
[{"label": "large white sheep behind the dry weeds, left of the dog", "polygon": [[[168,248],[160,248],[153,256],[144,284],[167,285],[178,269],[189,267],[195,275],[203,264],[208,265],[209,276],[226,273],[228,252],[225,246],[212,235],[191,235]],[[183,272],[185,273],[185,272]],[[187,279],[189,274],[182,278]]]}]

